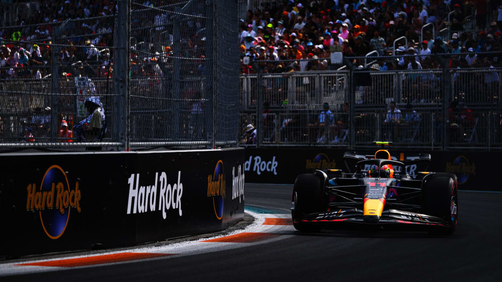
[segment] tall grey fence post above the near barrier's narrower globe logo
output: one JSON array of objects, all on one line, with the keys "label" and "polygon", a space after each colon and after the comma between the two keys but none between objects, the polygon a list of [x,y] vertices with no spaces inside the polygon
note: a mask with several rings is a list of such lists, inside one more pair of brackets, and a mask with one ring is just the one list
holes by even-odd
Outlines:
[{"label": "tall grey fence post above the near barrier's narrower globe logo", "polygon": [[207,1],[205,8],[205,132],[206,140],[214,148],[216,138],[216,119],[214,119],[214,2]]}]

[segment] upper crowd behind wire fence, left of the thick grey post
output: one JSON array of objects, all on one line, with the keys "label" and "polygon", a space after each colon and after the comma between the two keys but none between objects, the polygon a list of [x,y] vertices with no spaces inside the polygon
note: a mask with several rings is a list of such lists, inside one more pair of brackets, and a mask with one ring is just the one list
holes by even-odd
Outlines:
[{"label": "upper crowd behind wire fence, left of the thick grey post", "polygon": [[111,75],[110,49],[98,47],[113,46],[113,18],[106,16],[116,13],[115,1],[41,0],[26,5],[35,6],[34,14],[21,13],[15,26],[0,27],[0,79],[47,77],[51,73],[54,28],[67,19],[76,21],[70,22],[67,33],[60,36],[69,38],[57,41],[67,45],[60,49],[60,74]]}]

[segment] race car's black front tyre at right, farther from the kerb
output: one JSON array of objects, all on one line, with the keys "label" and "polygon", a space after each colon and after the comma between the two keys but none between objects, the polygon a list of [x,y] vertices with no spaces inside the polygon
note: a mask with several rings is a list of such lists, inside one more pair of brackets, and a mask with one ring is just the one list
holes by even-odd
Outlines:
[{"label": "race car's black front tyre at right, farther from the kerb", "polygon": [[433,234],[452,234],[458,224],[458,183],[451,173],[435,173],[423,179],[423,213],[442,218],[448,228],[431,228]]}]

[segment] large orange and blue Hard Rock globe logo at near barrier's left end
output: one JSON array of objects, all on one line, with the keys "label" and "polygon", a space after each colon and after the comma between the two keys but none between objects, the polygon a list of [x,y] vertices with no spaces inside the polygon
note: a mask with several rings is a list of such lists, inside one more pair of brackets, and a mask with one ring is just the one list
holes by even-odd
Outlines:
[{"label": "large orange and blue Hard Rock globe logo at near barrier's left end", "polygon": [[81,212],[79,182],[75,182],[75,189],[71,190],[66,173],[58,165],[47,169],[40,191],[37,191],[35,183],[28,184],[26,190],[26,210],[38,211],[42,228],[51,239],[55,240],[63,235],[72,208]]}]

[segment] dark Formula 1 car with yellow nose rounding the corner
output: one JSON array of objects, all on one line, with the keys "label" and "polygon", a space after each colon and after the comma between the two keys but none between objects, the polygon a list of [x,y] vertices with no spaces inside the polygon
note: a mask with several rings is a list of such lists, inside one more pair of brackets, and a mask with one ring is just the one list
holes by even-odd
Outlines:
[{"label": "dark Formula 1 car with yellow nose rounding the corner", "polygon": [[458,223],[457,176],[451,173],[417,172],[406,165],[428,166],[431,155],[415,159],[391,159],[384,145],[375,155],[345,152],[341,169],[301,174],[293,188],[291,214],[300,231],[317,231],[336,222],[368,225],[417,225],[431,233],[451,234]]}]

